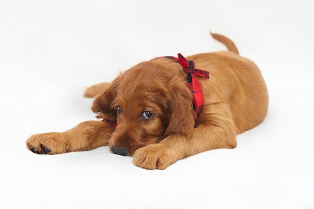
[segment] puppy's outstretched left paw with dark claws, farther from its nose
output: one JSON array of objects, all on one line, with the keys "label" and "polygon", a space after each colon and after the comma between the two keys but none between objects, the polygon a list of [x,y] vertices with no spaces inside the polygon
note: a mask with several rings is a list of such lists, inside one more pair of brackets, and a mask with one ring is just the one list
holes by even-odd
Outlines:
[{"label": "puppy's outstretched left paw with dark claws, farther from its nose", "polygon": [[66,148],[58,143],[59,133],[41,133],[30,136],[26,141],[29,150],[37,154],[65,153]]}]

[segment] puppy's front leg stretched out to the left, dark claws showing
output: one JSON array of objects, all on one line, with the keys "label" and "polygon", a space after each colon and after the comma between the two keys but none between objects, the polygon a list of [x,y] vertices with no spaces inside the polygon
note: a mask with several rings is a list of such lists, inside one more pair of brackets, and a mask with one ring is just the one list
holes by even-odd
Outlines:
[{"label": "puppy's front leg stretched out to the left, dark claws showing", "polygon": [[26,145],[38,154],[87,151],[108,145],[113,131],[114,128],[103,121],[85,121],[64,132],[34,134]]}]

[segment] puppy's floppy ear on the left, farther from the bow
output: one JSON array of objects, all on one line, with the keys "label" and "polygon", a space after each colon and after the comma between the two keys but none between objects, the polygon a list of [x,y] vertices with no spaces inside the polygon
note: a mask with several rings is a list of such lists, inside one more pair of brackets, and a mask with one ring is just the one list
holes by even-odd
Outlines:
[{"label": "puppy's floppy ear on the left, farther from the bow", "polygon": [[112,107],[112,102],[117,96],[117,83],[116,78],[112,81],[111,85],[100,95],[96,97],[92,104],[92,111],[96,114],[96,118],[106,118],[115,122],[117,120],[117,110]]}]

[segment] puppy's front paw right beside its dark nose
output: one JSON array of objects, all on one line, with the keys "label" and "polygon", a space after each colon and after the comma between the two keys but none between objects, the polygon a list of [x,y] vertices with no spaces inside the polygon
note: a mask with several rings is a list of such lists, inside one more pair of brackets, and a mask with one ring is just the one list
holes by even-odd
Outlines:
[{"label": "puppy's front paw right beside its dark nose", "polygon": [[165,169],[177,161],[174,152],[160,144],[150,144],[139,148],[133,155],[133,164],[145,169]]}]

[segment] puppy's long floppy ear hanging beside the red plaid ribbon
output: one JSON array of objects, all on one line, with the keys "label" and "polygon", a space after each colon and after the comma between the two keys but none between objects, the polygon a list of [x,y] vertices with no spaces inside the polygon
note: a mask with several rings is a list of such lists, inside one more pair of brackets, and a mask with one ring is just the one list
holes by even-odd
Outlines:
[{"label": "puppy's long floppy ear hanging beside the red plaid ribbon", "polygon": [[182,82],[172,84],[169,87],[168,102],[168,128],[165,136],[180,134],[190,137],[195,125],[190,90]]}]

